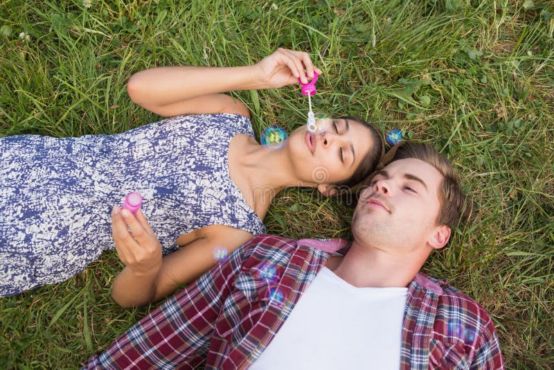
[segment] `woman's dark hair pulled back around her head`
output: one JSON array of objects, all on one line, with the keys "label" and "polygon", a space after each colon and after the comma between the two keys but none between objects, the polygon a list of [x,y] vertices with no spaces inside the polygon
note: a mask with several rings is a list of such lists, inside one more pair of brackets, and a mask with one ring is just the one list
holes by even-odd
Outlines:
[{"label": "woman's dark hair pulled back around her head", "polygon": [[369,130],[372,141],[372,143],[370,143],[371,147],[368,154],[361,160],[361,163],[356,168],[354,174],[350,176],[349,179],[334,184],[334,186],[344,190],[343,188],[345,187],[351,188],[352,186],[359,184],[371,173],[373,173],[383,155],[384,142],[379,130],[377,130],[374,125],[354,116],[341,116],[339,118],[348,119],[348,121],[356,121],[364,125]]}]

